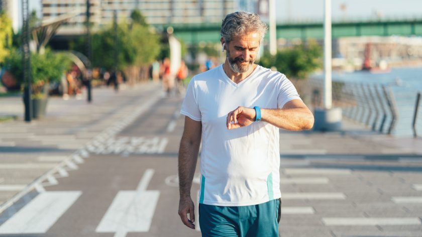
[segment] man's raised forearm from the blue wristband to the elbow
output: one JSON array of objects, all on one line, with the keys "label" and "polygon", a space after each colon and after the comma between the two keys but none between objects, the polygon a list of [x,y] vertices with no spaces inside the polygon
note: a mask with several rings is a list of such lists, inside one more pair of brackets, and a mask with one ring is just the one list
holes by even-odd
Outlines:
[{"label": "man's raised forearm from the blue wristband to the elbow", "polygon": [[308,130],[313,126],[313,114],[308,108],[261,109],[261,121],[290,131]]}]

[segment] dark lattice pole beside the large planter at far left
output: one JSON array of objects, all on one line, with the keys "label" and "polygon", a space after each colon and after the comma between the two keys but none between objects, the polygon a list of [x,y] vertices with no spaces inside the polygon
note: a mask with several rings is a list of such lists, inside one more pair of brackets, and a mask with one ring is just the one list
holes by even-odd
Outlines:
[{"label": "dark lattice pole beside the large planter at far left", "polygon": [[31,52],[29,49],[29,5],[28,0],[22,0],[22,69],[24,81],[26,82],[24,89],[25,103],[25,121],[32,120],[32,99],[31,99]]}]

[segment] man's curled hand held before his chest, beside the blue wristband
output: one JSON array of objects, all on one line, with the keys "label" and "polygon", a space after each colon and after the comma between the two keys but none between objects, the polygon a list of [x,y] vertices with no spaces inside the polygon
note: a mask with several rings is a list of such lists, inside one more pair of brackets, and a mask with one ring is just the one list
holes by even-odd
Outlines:
[{"label": "man's curled hand held before his chest, beside the blue wristband", "polygon": [[254,108],[239,106],[227,114],[227,129],[246,127],[255,121],[255,117],[256,112]]}]

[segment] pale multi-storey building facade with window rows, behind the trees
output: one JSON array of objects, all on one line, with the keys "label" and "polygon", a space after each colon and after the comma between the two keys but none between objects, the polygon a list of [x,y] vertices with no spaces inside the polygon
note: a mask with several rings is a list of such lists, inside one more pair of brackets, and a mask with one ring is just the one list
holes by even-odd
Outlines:
[{"label": "pale multi-storey building facade with window rows, behind the trees", "polygon": [[[86,19],[86,0],[41,0],[43,20],[73,11],[80,12],[61,27],[58,34],[80,34]],[[221,23],[235,11],[255,12],[256,0],[90,0],[90,22],[110,24],[114,11],[118,21],[129,20],[138,9],[152,25]]]}]

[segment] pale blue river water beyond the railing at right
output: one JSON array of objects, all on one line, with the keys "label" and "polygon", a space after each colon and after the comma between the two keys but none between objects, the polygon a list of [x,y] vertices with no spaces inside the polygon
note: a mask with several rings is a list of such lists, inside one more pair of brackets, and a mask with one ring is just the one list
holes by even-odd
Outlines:
[{"label": "pale blue river water beyond the railing at right", "polygon": [[[323,73],[315,73],[314,78],[323,79]],[[387,73],[368,71],[333,72],[333,81],[390,86],[398,108],[398,121],[393,130],[394,136],[413,135],[412,123],[417,92],[422,92],[422,67],[392,68]],[[422,100],[422,99],[421,99]],[[422,135],[422,101],[419,104],[416,131]]]}]

